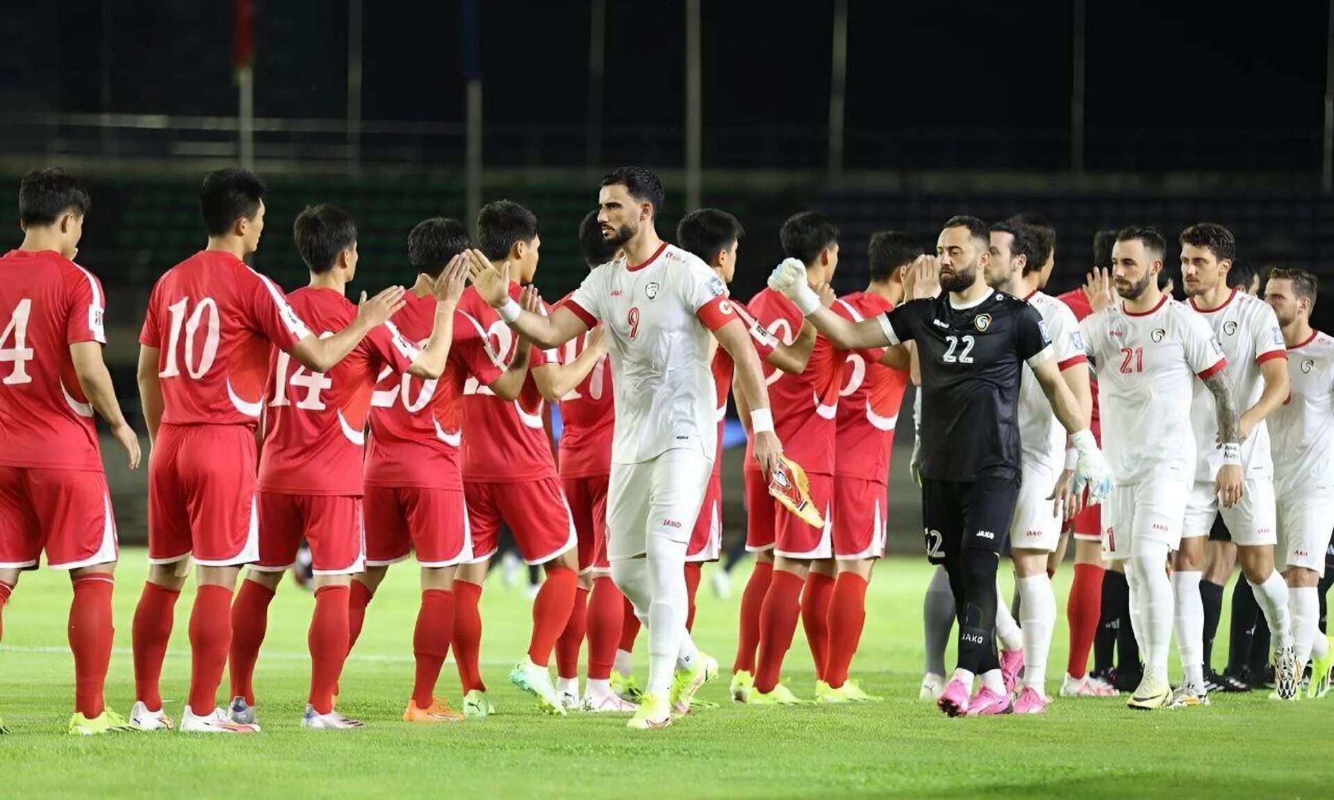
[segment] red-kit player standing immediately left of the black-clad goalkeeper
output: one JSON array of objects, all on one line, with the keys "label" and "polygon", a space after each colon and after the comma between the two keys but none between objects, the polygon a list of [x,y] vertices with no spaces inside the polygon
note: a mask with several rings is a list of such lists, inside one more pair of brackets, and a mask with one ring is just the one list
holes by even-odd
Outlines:
[{"label": "red-kit player standing immediately left of the black-clad goalkeeper", "polygon": [[[903,273],[920,253],[922,248],[907,233],[872,233],[866,289],[839,297],[835,305],[854,320],[898,307],[904,297]],[[828,600],[824,676],[815,692],[816,700],[826,703],[882,700],[848,679],[847,672],[866,624],[871,569],[884,555],[894,429],[908,383],[902,355],[898,348],[872,348],[847,353],[843,364],[834,461],[832,540],[838,577]]]}]

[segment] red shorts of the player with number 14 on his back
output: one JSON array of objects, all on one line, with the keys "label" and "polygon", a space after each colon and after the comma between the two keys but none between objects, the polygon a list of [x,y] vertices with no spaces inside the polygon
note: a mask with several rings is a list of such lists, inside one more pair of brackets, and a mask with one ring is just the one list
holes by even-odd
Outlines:
[{"label": "red shorts of the player with number 14 on his back", "polygon": [[259,493],[259,561],[251,569],[281,572],[296,563],[301,539],[311,545],[315,575],[366,569],[362,499],[346,495]]}]

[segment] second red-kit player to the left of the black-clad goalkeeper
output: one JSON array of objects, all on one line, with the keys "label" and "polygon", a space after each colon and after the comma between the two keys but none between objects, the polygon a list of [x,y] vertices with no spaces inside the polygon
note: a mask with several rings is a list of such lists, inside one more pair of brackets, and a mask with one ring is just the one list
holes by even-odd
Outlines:
[{"label": "second red-kit player to the left of the black-clad goalkeeper", "polygon": [[[811,287],[832,280],[839,251],[834,220],[814,211],[795,213],[783,223],[779,240],[783,253],[804,265]],[[784,341],[806,324],[796,305],[772,288],[762,289],[750,305],[760,325]],[[839,313],[846,312],[839,309]],[[827,339],[816,337],[800,375],[768,379],[774,396],[774,425],[788,456],[806,469],[811,504],[824,525],[812,527],[770,497],[766,476],[747,461],[746,547],[756,553],[768,551],[764,557],[772,557],[772,568],[758,609],[747,600],[752,600],[752,584],[764,579],[760,555],[756,555],[751,584],[742,596],[740,636],[732,668],[734,699],[744,696],[747,703],[764,705],[798,703],[779,679],[799,616],[815,661],[816,681],[824,680],[830,589],[836,571],[832,541],[834,448],[846,357],[847,353],[839,352]],[[756,611],[758,617],[748,616]]]}]

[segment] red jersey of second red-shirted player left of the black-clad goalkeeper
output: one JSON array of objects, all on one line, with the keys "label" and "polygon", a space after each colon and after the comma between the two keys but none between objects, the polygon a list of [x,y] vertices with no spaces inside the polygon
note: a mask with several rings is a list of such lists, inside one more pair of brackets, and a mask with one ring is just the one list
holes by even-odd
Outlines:
[{"label": "red jersey of second red-shirted player left of the black-clad goalkeeper", "polygon": [[[791,300],[768,288],[755,295],[750,311],[783,344],[792,343],[804,321]],[[815,349],[800,375],[787,375],[776,367],[766,368],[774,432],[783,443],[783,453],[806,472],[834,475],[835,420],[844,357],[843,351],[816,336]],[[747,447],[750,455],[751,448]],[[759,469],[759,464],[747,457],[746,468]]]}]

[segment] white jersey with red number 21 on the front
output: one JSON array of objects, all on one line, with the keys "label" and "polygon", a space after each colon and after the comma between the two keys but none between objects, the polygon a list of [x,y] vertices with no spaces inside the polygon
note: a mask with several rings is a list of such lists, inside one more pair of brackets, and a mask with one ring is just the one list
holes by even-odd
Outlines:
[{"label": "white jersey with red number 21 on the front", "polygon": [[1163,296],[1143,313],[1118,303],[1085,317],[1079,331],[1098,368],[1102,445],[1117,484],[1139,483],[1162,468],[1190,475],[1195,376],[1227,367],[1209,323]]}]

